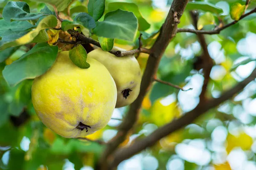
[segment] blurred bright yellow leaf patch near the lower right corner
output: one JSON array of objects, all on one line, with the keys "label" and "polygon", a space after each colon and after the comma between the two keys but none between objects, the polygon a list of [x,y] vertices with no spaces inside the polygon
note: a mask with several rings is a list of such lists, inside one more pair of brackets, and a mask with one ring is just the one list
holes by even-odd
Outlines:
[{"label": "blurred bright yellow leaf patch near the lower right corner", "polygon": [[227,153],[230,153],[231,150],[235,147],[241,147],[242,150],[249,150],[253,144],[253,139],[244,132],[239,133],[238,135],[227,135]]}]

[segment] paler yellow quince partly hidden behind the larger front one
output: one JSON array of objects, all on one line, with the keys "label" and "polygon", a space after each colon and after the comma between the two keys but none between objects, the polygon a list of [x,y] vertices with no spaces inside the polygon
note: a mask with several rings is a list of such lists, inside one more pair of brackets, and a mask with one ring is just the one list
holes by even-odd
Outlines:
[{"label": "paler yellow quince partly hidden behind the larger front one", "polygon": [[[124,51],[122,48],[114,47],[114,50]],[[134,56],[116,57],[102,48],[97,48],[90,53],[92,57],[101,62],[110,72],[116,82],[117,101],[116,108],[130,105],[140,93],[141,70],[137,59]],[[124,97],[123,91],[130,89],[129,96]]]}]

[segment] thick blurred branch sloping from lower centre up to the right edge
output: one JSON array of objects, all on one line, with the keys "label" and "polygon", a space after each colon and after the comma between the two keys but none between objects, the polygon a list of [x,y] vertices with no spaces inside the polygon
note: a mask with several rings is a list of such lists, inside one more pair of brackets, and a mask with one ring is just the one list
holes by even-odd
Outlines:
[{"label": "thick blurred branch sloping from lower centre up to the right edge", "polygon": [[136,153],[146,149],[147,147],[153,146],[158,140],[161,138],[169,135],[170,133],[178,130],[186,125],[192,123],[196,118],[200,115],[208,111],[209,109],[215,108],[220,105],[222,102],[226,101],[227,99],[232,98],[235,94],[239,93],[243,88],[251,81],[256,78],[256,69],[253,70],[252,74],[244,79],[244,81],[239,82],[235,87],[231,88],[230,90],[224,92],[219,98],[211,99],[207,101],[204,105],[198,105],[192,111],[187,112],[184,116],[180,117],[173,122],[170,122],[157,130],[151,133],[149,136],[145,137],[144,139],[138,140],[134,142],[134,144],[119,149],[114,154],[114,160],[112,166],[115,167],[121,161],[128,159],[129,157],[133,156]]}]

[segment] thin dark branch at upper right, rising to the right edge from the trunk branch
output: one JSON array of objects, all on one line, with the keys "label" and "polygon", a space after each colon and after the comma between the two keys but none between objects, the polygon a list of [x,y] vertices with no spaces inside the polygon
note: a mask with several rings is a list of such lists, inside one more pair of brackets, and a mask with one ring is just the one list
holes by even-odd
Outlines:
[{"label": "thin dark branch at upper right, rising to the right edge from the trunk branch", "polygon": [[[239,20],[242,20],[243,18],[249,16],[250,14],[253,14],[256,12],[256,8],[254,8],[252,11],[242,15]],[[239,21],[238,20],[238,21]],[[178,28],[177,32],[190,32],[190,33],[195,33],[195,34],[219,34],[222,30],[225,28],[228,28],[230,26],[233,26],[236,24],[238,21],[233,21],[223,27],[218,27],[215,30],[210,30],[210,31],[204,31],[204,30],[196,30],[196,29],[190,29],[190,28]]]}]

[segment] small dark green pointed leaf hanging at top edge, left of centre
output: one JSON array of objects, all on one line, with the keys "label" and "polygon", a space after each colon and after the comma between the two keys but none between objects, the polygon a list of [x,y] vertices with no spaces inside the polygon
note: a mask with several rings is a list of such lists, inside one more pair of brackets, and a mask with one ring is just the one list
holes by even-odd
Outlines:
[{"label": "small dark green pointed leaf hanging at top edge, left of centre", "polygon": [[105,11],[105,0],[89,0],[88,12],[94,20],[99,20]]}]

